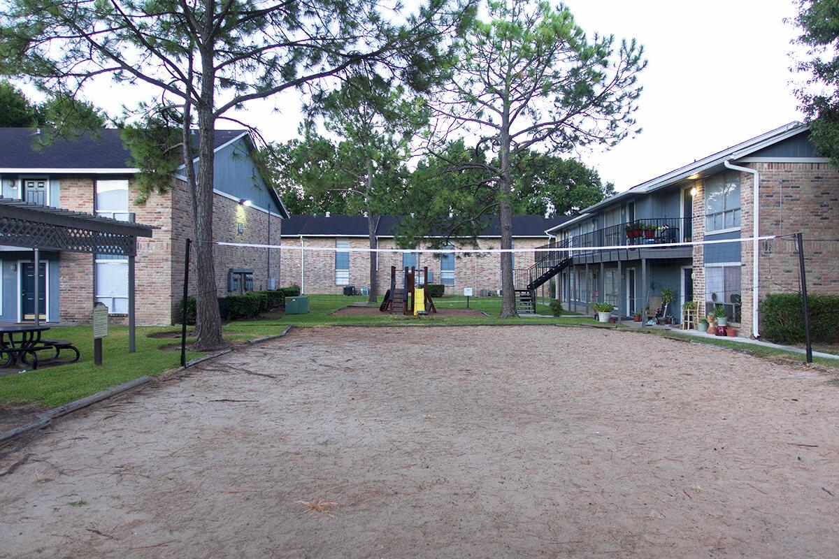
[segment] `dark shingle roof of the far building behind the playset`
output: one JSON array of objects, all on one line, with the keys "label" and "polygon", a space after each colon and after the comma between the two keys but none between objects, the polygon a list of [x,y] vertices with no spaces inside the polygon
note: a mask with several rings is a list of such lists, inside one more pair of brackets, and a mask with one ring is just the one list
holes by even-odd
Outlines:
[{"label": "dark shingle roof of the far building behind the playset", "polygon": [[[561,215],[545,218],[542,215],[513,215],[513,236],[544,237],[545,230],[571,218]],[[399,215],[378,217],[376,235],[393,236],[401,223]],[[283,236],[367,236],[367,218],[362,215],[291,215],[283,221]],[[492,218],[483,237],[500,237],[498,217]]]}]

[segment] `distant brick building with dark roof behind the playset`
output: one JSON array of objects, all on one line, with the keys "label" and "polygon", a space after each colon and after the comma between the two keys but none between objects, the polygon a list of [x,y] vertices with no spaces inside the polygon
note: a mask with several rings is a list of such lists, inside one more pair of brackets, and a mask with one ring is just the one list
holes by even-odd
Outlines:
[{"label": "distant brick building with dark roof behind the playset", "polygon": [[[562,223],[567,217],[545,218],[541,215],[513,216],[515,248],[536,248],[549,241],[545,230]],[[376,218],[376,240],[380,249],[397,249],[393,236],[399,217],[382,215]],[[357,289],[370,286],[370,264],[367,252],[341,251],[368,248],[367,218],[362,215],[291,215],[284,220],[283,246],[303,246],[307,250],[283,249],[279,281],[282,285],[299,285],[306,293],[341,293],[345,286]],[[501,231],[493,220],[477,237],[478,248],[500,248]],[[309,250],[315,246],[324,251]],[[453,242],[458,249],[474,248],[470,243]],[[421,247],[418,247],[421,248]],[[338,249],[338,251],[336,251]],[[528,268],[534,254],[516,254],[514,268]],[[377,258],[378,293],[390,287],[390,267],[429,268],[430,282],[441,283],[448,292],[461,293],[472,287],[477,295],[482,290],[493,294],[501,288],[501,266],[498,254],[435,255],[409,250],[379,252]]]}]

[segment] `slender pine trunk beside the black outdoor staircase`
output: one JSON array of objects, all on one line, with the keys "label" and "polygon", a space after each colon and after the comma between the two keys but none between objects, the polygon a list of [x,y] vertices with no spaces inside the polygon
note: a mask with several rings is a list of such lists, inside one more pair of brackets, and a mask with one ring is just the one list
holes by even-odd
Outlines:
[{"label": "slender pine trunk beside the black outdoor staircase", "polygon": [[[501,225],[501,248],[513,248],[513,208],[510,204],[510,185],[512,184],[512,173],[510,172],[510,136],[507,111],[502,115],[502,125],[499,146],[499,163],[501,173],[498,177],[498,204],[500,215],[498,217]],[[501,253],[501,318],[517,317],[516,293],[513,284],[513,253]]]}]

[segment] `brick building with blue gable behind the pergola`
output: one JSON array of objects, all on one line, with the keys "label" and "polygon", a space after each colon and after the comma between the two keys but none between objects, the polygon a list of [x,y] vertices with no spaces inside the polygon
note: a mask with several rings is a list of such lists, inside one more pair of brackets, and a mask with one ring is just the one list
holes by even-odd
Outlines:
[{"label": "brick building with blue gable behind the pergola", "polygon": [[[0,128],[0,184],[3,198],[20,199],[66,210],[136,220],[154,225],[151,239],[138,241],[136,319],[138,324],[169,324],[182,297],[185,240],[191,236],[192,212],[185,177],[173,177],[170,188],[138,203],[128,166],[130,155],[120,132],[104,129],[91,136],[59,139],[34,148],[37,133],[29,128]],[[216,241],[278,243],[282,201],[253,163],[248,132],[216,131],[213,231]],[[183,169],[183,166],[181,167]],[[226,256],[230,256],[229,259]],[[268,287],[279,277],[279,261],[268,251],[218,251],[219,295],[231,287]],[[125,258],[71,252],[42,253],[39,270],[41,319],[52,323],[86,323],[93,303],[102,302],[112,322],[124,320],[128,306],[128,262]],[[31,251],[0,246],[0,322],[34,319],[34,265]],[[230,271],[237,272],[230,281]]]}]

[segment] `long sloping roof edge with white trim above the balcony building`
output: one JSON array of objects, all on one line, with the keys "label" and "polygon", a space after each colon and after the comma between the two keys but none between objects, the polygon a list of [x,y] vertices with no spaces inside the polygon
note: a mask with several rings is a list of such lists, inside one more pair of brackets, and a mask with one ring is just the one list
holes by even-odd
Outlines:
[{"label": "long sloping roof edge with white trim above the balcony building", "polygon": [[787,138],[807,132],[809,129],[809,126],[801,122],[789,122],[788,124],[784,124],[782,127],[774,128],[769,132],[764,132],[759,136],[749,138],[744,142],[739,142],[730,148],[723,149],[717,153],[711,153],[711,155],[697,159],[693,163],[688,163],[680,168],[675,168],[668,173],[664,173],[654,179],[644,181],[641,184],[636,184],[628,190],[624,190],[621,193],[615,194],[607,199],[603,199],[600,202],[597,202],[597,204],[593,204],[583,210],[581,215],[578,215],[573,220],[568,220],[560,225],[554,225],[550,229],[545,230],[545,233],[564,229],[565,227],[574,225],[582,220],[586,220],[586,218],[591,217],[591,214],[597,212],[597,210],[601,210],[602,208],[612,205],[621,199],[631,198],[640,194],[648,194],[654,190],[663,189],[671,184],[679,183],[685,179],[698,179],[702,173],[708,173],[710,171],[716,171],[717,169],[724,168],[724,163],[726,161],[737,161],[738,159],[743,159],[753,153],[761,152],[763,149],[778,142],[783,142]]}]

